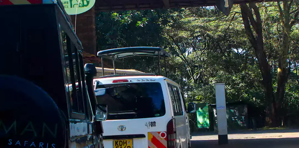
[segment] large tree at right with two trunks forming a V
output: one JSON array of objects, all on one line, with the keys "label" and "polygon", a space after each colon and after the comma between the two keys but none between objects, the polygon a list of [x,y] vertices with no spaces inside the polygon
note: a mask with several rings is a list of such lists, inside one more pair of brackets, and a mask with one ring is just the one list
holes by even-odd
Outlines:
[{"label": "large tree at right with two trunks forming a V", "polygon": [[[298,7],[295,7],[294,1],[283,1],[283,7],[281,7],[281,2],[274,4],[274,2],[259,4],[259,7],[265,10],[263,13],[264,20],[262,20],[259,7],[256,4],[249,4],[249,6],[241,4],[240,7],[246,34],[259,60],[263,75],[265,99],[268,102],[267,104],[271,105],[271,112],[269,108],[267,110],[271,119],[268,120],[268,123],[272,123],[272,126],[280,126],[286,115],[286,106],[284,104],[285,85],[291,72],[291,60],[288,59],[289,39],[291,28],[298,22]],[[275,24],[280,28],[276,27],[274,29],[273,25]],[[263,34],[263,31],[266,32],[266,35]],[[266,44],[264,44],[265,41],[267,41]],[[265,49],[265,47],[268,49]],[[275,50],[271,50],[271,48]],[[276,66],[277,70],[273,70],[272,68]],[[273,90],[271,77],[272,73],[275,72],[277,73],[276,85],[274,85],[276,92]]]}]

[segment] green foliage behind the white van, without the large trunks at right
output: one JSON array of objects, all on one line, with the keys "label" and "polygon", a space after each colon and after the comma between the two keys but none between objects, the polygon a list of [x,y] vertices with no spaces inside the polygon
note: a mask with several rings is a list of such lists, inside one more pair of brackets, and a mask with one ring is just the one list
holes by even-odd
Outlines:
[{"label": "green foliage behind the white van, without the large trunks at right", "polygon": [[[257,6],[276,89],[276,67],[283,37],[279,8],[277,2]],[[290,6],[291,17],[297,19],[298,8],[295,3]],[[290,113],[299,112],[298,29],[299,25],[295,24],[290,32],[288,61],[291,62],[291,74],[284,99]],[[187,102],[215,103],[214,83],[225,82],[228,102],[242,100],[257,106],[265,104],[259,63],[247,39],[238,5],[234,5],[228,16],[215,7],[100,12],[96,30],[99,50],[153,46],[168,51],[172,56],[166,64],[168,77],[181,85]],[[153,58],[125,60],[128,69],[152,73],[157,73],[157,63]],[[161,69],[165,69],[162,61]]]}]

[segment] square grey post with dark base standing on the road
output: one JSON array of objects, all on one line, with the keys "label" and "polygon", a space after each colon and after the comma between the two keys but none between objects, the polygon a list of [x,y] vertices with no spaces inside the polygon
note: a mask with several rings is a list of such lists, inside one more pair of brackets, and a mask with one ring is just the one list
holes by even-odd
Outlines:
[{"label": "square grey post with dark base standing on the road", "polygon": [[216,83],[215,84],[218,144],[219,145],[228,143],[224,84],[225,83]]}]

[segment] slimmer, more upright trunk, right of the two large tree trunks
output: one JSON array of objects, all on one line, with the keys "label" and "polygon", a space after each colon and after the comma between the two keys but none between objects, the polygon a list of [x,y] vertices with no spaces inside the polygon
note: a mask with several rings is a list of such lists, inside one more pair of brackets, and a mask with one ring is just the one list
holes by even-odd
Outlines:
[{"label": "slimmer, more upright trunk, right of the two large tree trunks", "polygon": [[[285,116],[283,100],[285,97],[285,84],[288,79],[288,44],[289,34],[291,31],[290,25],[290,9],[288,7],[288,0],[283,1],[283,10],[281,9],[280,2],[277,2],[280,10],[280,24],[283,31],[282,49],[278,58],[277,69],[277,92],[276,92],[276,108],[278,112],[278,126],[282,125]],[[291,5],[291,4],[290,4]]]}]

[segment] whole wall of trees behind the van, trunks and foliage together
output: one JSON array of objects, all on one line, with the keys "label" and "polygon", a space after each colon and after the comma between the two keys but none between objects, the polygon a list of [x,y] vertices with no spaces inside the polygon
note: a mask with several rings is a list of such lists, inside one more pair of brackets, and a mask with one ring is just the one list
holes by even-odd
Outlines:
[{"label": "whole wall of trees behind the van, trunks and foliage together", "polygon": [[[298,8],[291,0],[234,5],[228,16],[216,7],[98,12],[97,46],[162,47],[187,102],[215,103],[214,83],[225,82],[227,102],[265,106],[267,123],[279,126],[299,113]],[[125,67],[157,73],[157,63],[132,58]]]}]

